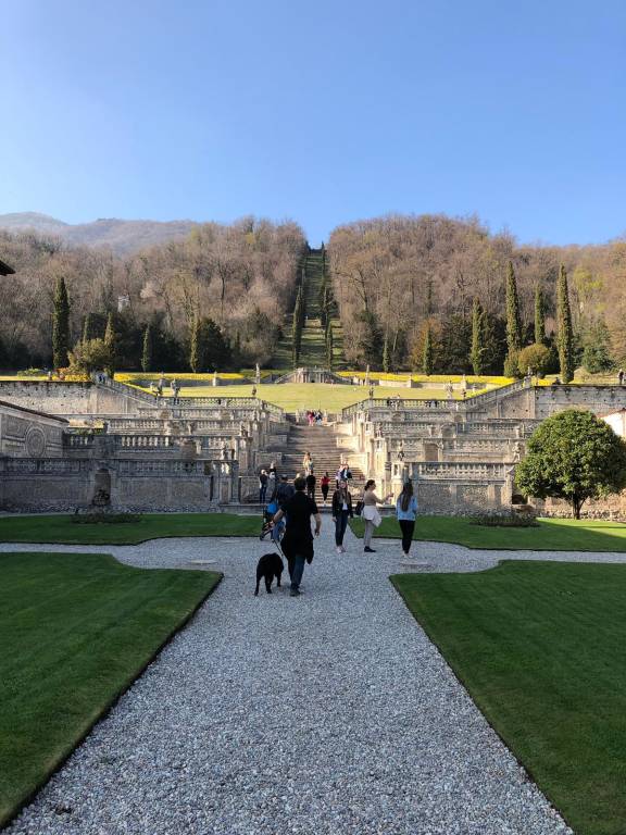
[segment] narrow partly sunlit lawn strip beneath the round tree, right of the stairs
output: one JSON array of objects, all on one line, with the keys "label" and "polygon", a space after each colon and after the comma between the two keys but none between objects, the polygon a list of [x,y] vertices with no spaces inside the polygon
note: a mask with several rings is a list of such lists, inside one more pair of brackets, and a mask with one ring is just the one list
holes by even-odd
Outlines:
[{"label": "narrow partly sunlit lawn strip beneath the round tree, right of the stairs", "polygon": [[[538,527],[483,527],[463,516],[417,516],[413,539],[509,551],[626,551],[626,525],[619,522],[575,519],[540,519],[538,522]],[[356,536],[363,536],[362,520],[352,520],[350,526]],[[386,516],[375,536],[399,539],[400,526],[396,519]]]}]

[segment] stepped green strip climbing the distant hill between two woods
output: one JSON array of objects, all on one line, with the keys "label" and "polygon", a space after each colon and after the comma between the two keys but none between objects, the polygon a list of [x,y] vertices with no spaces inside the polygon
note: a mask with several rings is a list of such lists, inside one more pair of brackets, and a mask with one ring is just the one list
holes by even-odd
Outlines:
[{"label": "stepped green strip climbing the distant hill between two woods", "polygon": [[[306,320],[302,329],[302,347],[298,365],[300,367],[323,369],[326,362],[326,334],[323,326],[323,310],[321,304],[324,283],[325,253],[322,249],[312,249],[304,257],[301,266],[301,281],[304,292]],[[343,357],[343,331],[337,316],[331,317],[335,371],[346,367]],[[291,370],[293,367],[291,329],[293,314],[285,316],[284,336],[274,354],[276,369]]]}]

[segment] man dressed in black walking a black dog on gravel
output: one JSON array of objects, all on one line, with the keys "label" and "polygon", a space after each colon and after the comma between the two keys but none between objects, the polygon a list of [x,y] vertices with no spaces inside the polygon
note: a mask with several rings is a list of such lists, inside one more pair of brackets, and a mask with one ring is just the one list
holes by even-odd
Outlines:
[{"label": "man dressed in black walking a black dog on gravel", "polygon": [[295,496],[289,499],[285,509],[280,508],[274,515],[274,524],[278,524],[283,516],[287,518],[285,536],[280,544],[291,579],[291,597],[300,595],[300,583],[304,573],[304,563],[313,562],[313,534],[311,532],[311,516],[315,520],[315,536],[320,536],[322,529],[322,516],[317,504],[304,493],[306,482],[301,476],[293,481]]}]

